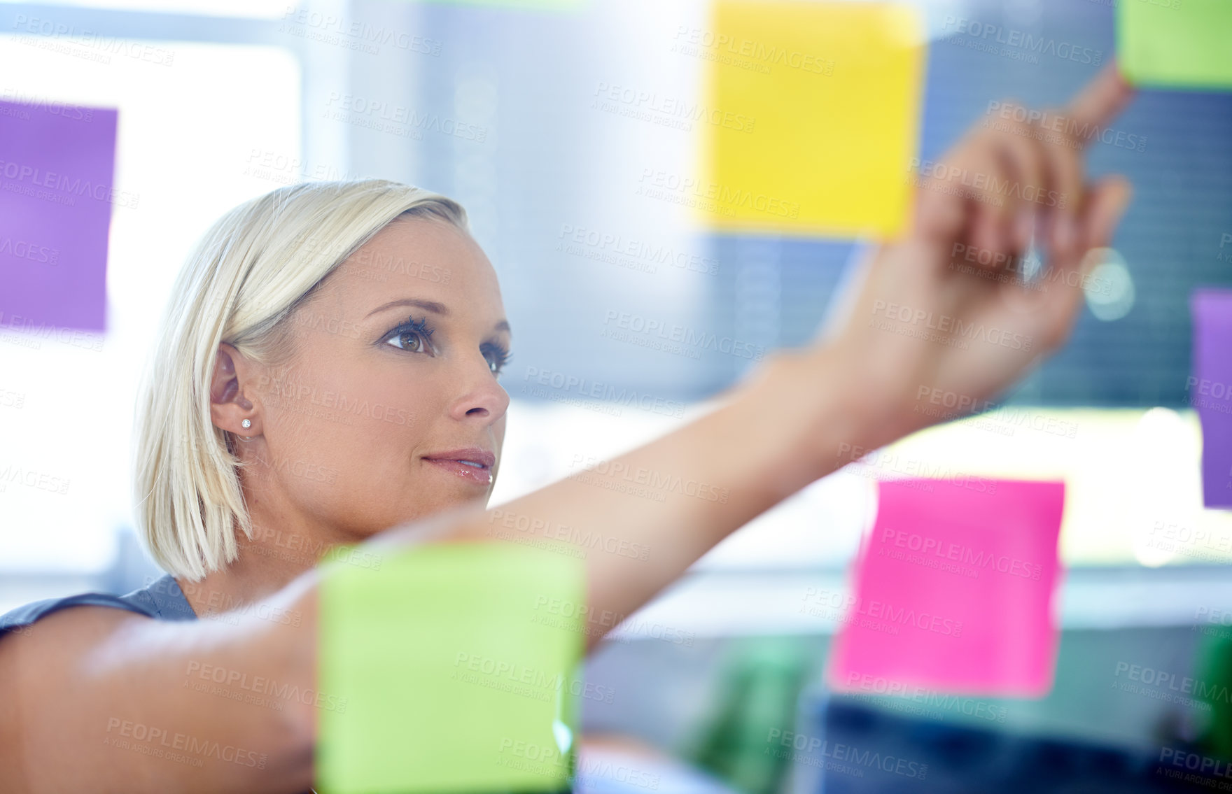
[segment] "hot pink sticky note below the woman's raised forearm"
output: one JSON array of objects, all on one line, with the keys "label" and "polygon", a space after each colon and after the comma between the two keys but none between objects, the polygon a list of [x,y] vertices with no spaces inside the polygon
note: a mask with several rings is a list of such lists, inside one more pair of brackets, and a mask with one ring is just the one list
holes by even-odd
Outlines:
[{"label": "hot pink sticky note below the woman's raised forearm", "polygon": [[1063,483],[878,483],[828,670],[840,691],[1052,688]]}]

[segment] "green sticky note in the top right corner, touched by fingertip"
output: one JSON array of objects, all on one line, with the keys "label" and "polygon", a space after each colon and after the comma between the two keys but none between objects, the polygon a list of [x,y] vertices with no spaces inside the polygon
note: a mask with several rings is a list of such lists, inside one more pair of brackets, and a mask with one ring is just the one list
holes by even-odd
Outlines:
[{"label": "green sticky note in the top right corner, touched by fingertip", "polygon": [[1232,1],[1120,0],[1116,49],[1135,85],[1232,89]]}]

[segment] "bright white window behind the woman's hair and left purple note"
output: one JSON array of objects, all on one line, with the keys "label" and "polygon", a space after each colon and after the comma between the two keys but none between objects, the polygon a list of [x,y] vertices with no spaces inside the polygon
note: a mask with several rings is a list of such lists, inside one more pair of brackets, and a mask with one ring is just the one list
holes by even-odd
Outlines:
[{"label": "bright white window behind the woman's hair and left purple note", "polygon": [[120,108],[116,190],[137,201],[112,208],[101,350],[0,335],[0,388],[23,395],[0,407],[0,469],[69,483],[0,491],[0,569],[87,571],[133,523],[137,388],[180,265],[225,211],[280,186],[254,153],[301,156],[299,65],[271,47],[142,42],[174,50],[161,64],[37,43],[0,36],[0,98]]}]

